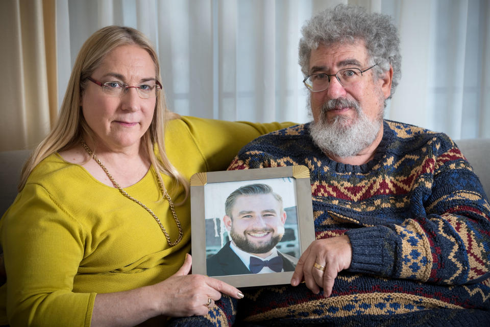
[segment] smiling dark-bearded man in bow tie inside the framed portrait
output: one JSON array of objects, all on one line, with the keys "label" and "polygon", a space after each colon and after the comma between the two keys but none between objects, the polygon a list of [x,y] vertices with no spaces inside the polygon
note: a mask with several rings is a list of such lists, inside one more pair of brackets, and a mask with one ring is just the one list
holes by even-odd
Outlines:
[{"label": "smiling dark-bearded man in bow tie inside the framed portrait", "polygon": [[298,259],[276,249],[284,235],[282,198],[266,184],[233,191],[225,202],[223,223],[231,241],[206,260],[209,276],[295,270]]}]

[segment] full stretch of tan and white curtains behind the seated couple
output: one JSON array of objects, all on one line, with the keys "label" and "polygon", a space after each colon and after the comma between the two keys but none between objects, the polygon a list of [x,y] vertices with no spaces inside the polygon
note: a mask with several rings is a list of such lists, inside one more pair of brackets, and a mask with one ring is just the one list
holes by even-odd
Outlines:
[{"label": "full stretch of tan and white curtains behind the seated couple", "polygon": [[[56,19],[46,21],[53,18],[40,15],[53,1]],[[40,141],[39,131],[45,132],[56,115],[49,108],[61,104],[82,43],[112,24],[137,28],[154,42],[171,110],[224,120],[307,122],[308,92],[298,65],[300,30],[312,15],[338,3],[389,14],[399,27],[402,78],[385,118],[442,131],[454,139],[490,137],[487,0],[4,0],[3,31],[26,25],[22,19],[38,21],[38,26],[44,19],[44,28],[55,24],[56,67],[42,68],[43,58],[36,67],[41,76],[56,72],[46,79],[57,83],[57,97],[47,102],[40,95],[34,102],[35,87],[28,80],[20,80],[17,90],[34,92],[28,92],[29,101],[9,91],[10,78],[26,76],[27,63],[33,61],[24,60],[23,68],[0,67],[0,73],[8,73],[0,88],[0,150],[30,148]],[[18,14],[18,8],[29,9],[26,4],[36,9],[29,12],[36,19]],[[15,45],[2,50],[7,62],[27,56],[30,42],[45,43],[42,35],[32,41],[35,33],[28,33],[22,33],[20,41],[20,32],[3,33],[2,44]],[[18,133],[25,141],[13,145],[7,141],[16,132],[13,120],[38,126],[24,127]]]}]

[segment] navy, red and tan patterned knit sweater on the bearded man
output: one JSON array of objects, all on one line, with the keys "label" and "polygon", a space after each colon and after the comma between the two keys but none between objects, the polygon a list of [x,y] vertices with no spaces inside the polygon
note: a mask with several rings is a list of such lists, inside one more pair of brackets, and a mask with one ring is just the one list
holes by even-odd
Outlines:
[{"label": "navy, red and tan patterned knit sweater on the bearded man", "polygon": [[291,165],[310,170],[316,238],[351,241],[351,267],[332,295],[304,284],[243,289],[244,299],[174,325],[222,325],[223,316],[235,325],[490,325],[490,206],[447,135],[384,121],[374,159],[351,166],[297,125],[255,139],[230,169]]}]

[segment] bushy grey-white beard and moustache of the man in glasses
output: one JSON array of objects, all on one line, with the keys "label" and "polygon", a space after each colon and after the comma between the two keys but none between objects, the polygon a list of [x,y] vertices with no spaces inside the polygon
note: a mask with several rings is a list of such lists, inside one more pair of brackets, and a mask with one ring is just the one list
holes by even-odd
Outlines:
[{"label": "bushy grey-white beard and moustache of the man in glasses", "polygon": [[[355,108],[357,117],[352,118],[353,122],[343,115],[328,120],[327,111],[339,107]],[[383,110],[371,121],[357,101],[332,99],[322,105],[318,121],[310,125],[310,135],[323,152],[338,157],[352,157],[374,142],[383,124],[382,114]]]}]

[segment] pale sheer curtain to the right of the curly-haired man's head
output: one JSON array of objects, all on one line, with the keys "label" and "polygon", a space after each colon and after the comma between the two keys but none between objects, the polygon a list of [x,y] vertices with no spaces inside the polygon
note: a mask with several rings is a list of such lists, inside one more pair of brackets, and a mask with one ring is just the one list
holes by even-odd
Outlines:
[{"label": "pale sheer curtain to the right of the curly-haired man's head", "polygon": [[402,79],[387,117],[454,139],[490,137],[490,3],[382,2],[400,28]]}]

